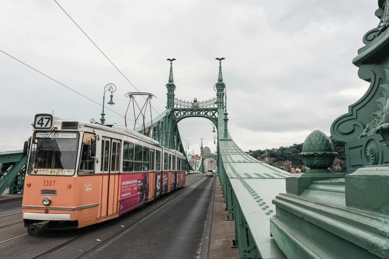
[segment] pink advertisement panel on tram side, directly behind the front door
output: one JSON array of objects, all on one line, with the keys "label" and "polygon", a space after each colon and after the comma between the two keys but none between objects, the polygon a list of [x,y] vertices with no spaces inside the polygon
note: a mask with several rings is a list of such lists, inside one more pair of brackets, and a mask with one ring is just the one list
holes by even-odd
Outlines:
[{"label": "pink advertisement panel on tram side, directly behind the front door", "polygon": [[149,200],[149,173],[121,176],[119,216]]}]

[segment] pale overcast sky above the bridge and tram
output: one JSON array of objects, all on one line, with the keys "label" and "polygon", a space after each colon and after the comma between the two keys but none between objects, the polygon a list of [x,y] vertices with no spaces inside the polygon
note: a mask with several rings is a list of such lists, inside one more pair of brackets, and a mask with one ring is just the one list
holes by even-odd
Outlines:
[{"label": "pale overcast sky above the bridge and tram", "polygon": [[[159,113],[166,106],[167,58],[176,59],[176,97],[199,101],[216,96],[215,58],[226,58],[229,131],[245,151],[301,143],[314,129],[329,135],[331,123],[368,88],[351,61],[379,22],[377,1],[58,2],[139,91],[156,95],[152,105]],[[1,0],[0,23],[1,51],[98,103],[104,86],[114,83],[109,108],[124,115],[124,94],[136,90],[54,0]],[[101,106],[3,53],[0,89],[0,151],[22,149],[37,113],[100,119]],[[106,111],[106,122],[124,119]],[[195,153],[200,138],[216,149],[210,121],[179,125]]]}]

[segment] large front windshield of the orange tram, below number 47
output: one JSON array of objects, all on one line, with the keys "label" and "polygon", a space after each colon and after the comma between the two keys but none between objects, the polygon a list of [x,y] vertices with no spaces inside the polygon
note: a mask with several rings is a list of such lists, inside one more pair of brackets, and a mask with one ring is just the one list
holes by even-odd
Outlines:
[{"label": "large front windshield of the orange tram, below number 47", "polygon": [[29,175],[73,176],[76,169],[78,132],[35,132]]}]

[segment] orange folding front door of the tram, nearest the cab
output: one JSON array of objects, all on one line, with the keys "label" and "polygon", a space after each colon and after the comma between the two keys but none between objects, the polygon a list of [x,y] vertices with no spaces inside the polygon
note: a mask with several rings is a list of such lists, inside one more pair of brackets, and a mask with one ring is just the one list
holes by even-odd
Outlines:
[{"label": "orange folding front door of the tram, nearest the cab", "polygon": [[101,144],[101,210],[100,217],[117,212],[120,167],[120,140],[102,137]]}]

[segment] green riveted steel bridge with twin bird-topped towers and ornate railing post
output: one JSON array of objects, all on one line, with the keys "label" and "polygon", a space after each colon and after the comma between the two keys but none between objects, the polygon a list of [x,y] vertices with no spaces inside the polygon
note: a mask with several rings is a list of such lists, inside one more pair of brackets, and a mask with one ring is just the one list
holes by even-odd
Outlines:
[{"label": "green riveted steel bridge with twin bird-topped towers and ornate railing post", "polygon": [[[204,102],[175,97],[170,62],[166,110],[146,124],[146,133],[184,153],[179,121],[200,117],[215,124],[217,153],[201,152],[200,171],[206,158],[217,160],[239,258],[389,259],[389,0],[378,3],[379,25],[363,36],[365,46],[353,60],[370,87],[330,129],[346,142],[347,173],[328,169],[337,153],[319,130],[300,154],[310,168],[306,173],[290,174],[249,156],[228,130],[223,59],[216,98]],[[26,161],[20,150],[0,153],[0,193],[7,187],[9,193],[23,191]]]}]

